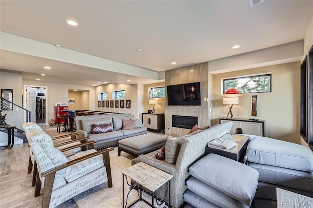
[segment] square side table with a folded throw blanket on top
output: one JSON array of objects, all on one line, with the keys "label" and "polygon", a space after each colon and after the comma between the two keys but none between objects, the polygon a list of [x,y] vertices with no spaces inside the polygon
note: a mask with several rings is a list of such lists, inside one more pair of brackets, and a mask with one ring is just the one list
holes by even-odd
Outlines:
[{"label": "square side table with a folded throw blanket on top", "polygon": [[206,146],[205,147],[205,155],[209,153],[214,153],[218,155],[222,155],[224,157],[230,158],[232,160],[239,161],[240,158],[246,152],[246,147],[249,142],[248,136],[237,135],[237,134],[225,134],[221,137],[222,139],[229,139],[235,141],[238,145],[226,150],[226,149],[218,149]]}]

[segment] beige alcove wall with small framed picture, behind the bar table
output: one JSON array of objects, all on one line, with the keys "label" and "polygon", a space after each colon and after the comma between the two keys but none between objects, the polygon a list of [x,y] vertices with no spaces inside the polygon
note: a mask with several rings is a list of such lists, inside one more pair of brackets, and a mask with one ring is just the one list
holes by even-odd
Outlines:
[{"label": "beige alcove wall with small framed picture, behind the bar table", "polygon": [[75,98],[75,104],[68,104],[69,110],[89,110],[89,90],[68,91],[68,98]]}]

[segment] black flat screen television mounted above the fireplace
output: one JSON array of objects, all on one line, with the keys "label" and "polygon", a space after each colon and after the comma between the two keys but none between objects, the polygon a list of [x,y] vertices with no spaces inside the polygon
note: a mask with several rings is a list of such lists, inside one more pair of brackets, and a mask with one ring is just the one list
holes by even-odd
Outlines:
[{"label": "black flat screen television mounted above the fireplace", "polygon": [[168,105],[201,105],[200,82],[167,86]]}]

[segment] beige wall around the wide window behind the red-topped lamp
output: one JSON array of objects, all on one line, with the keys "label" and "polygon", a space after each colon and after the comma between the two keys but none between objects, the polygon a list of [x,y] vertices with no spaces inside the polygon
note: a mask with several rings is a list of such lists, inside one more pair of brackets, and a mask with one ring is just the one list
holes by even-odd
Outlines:
[{"label": "beige wall around the wide window behind the red-topped lamp", "polygon": [[253,69],[246,69],[213,76],[214,124],[226,117],[227,105],[223,105],[221,82],[223,78],[246,76],[260,73],[272,74],[272,91],[268,93],[248,93],[238,95],[239,104],[232,112],[235,118],[251,117],[252,95],[257,95],[257,117],[266,120],[267,137],[300,143],[300,62],[284,63]]}]

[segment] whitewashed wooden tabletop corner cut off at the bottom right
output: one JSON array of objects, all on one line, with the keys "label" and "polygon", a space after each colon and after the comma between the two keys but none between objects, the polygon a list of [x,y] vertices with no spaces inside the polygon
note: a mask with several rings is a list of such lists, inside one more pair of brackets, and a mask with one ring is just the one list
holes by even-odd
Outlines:
[{"label": "whitewashed wooden tabletop corner cut off at the bottom right", "polygon": [[312,208],[313,198],[294,193],[281,188],[276,188],[277,208]]}]

